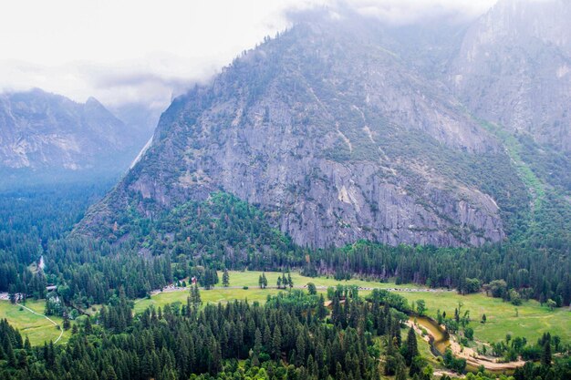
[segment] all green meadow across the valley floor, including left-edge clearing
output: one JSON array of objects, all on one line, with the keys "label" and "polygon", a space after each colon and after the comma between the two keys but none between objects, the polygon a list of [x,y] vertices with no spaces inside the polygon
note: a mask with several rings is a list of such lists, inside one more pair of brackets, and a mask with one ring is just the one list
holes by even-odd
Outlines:
[{"label": "all green meadow across the valley floor, including left-edge clearing", "polygon": [[[227,303],[234,300],[245,300],[249,302],[265,303],[268,295],[274,295],[284,290],[260,289],[258,279],[262,272],[230,272],[230,288],[216,286],[209,291],[201,291],[203,303]],[[275,286],[278,272],[265,272],[268,286]],[[304,286],[307,282],[317,285],[317,291],[325,293],[328,286],[337,284],[358,285],[364,288],[400,288],[418,289],[418,285],[400,284],[394,282],[373,282],[352,279],[349,281],[337,281],[333,278],[317,277],[310,278],[302,276],[297,272],[291,273],[295,286]],[[222,278],[222,273],[219,273]],[[247,289],[244,289],[247,287]],[[367,294],[369,291],[361,291]],[[571,312],[568,308],[555,309],[550,311],[546,306],[542,306],[536,301],[527,301],[520,306],[511,303],[504,303],[502,300],[487,297],[483,293],[461,295],[455,292],[398,292],[406,297],[410,303],[419,299],[425,301],[428,307],[428,315],[436,317],[437,310],[453,315],[454,309],[462,303],[463,311],[469,310],[472,318],[470,324],[474,330],[474,337],[483,342],[497,342],[505,338],[506,334],[512,336],[524,336],[529,341],[534,341],[541,334],[550,332],[559,335],[563,342],[571,343]],[[140,299],[135,302],[135,313],[141,313],[147,307],[154,305],[162,307],[167,303],[186,303],[189,295],[188,291],[161,292],[151,296],[149,299]],[[27,301],[26,306],[36,313],[44,313],[45,301]],[[91,312],[91,309],[89,309]],[[483,313],[486,314],[486,323],[481,324]],[[7,319],[14,325],[23,336],[28,336],[32,344],[43,344],[45,341],[56,340],[59,331],[54,324],[46,318],[34,313],[30,313],[20,306],[7,301],[0,301],[0,318]],[[62,324],[59,317],[51,317],[57,324]],[[59,343],[67,342],[69,332],[64,332]]]}]

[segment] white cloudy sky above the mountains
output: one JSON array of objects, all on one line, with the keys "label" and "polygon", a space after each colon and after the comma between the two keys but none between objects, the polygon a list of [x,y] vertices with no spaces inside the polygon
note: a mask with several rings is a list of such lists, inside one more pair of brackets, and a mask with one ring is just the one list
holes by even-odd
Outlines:
[{"label": "white cloudy sky above the mountains", "polygon": [[291,15],[350,8],[396,24],[474,17],[495,0],[18,0],[0,5],[0,90],[40,87],[83,102],[164,108]]}]

